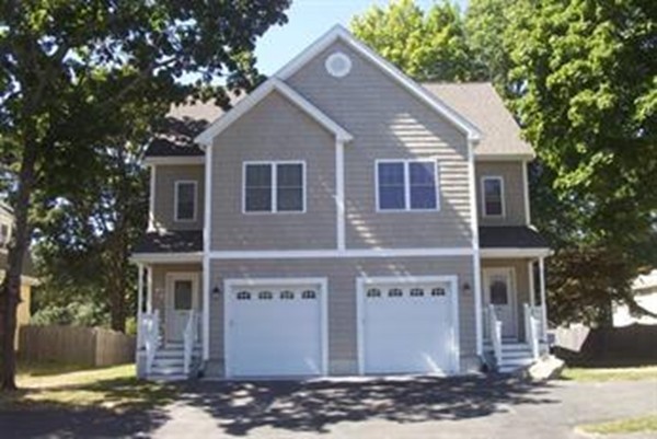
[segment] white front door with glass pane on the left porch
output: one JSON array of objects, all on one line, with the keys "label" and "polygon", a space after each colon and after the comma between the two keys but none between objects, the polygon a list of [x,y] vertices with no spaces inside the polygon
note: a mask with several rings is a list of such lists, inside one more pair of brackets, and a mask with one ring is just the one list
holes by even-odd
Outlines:
[{"label": "white front door with glass pane on the left porch", "polygon": [[198,311],[198,275],[168,275],[166,298],[166,340],[182,342],[191,311]]}]

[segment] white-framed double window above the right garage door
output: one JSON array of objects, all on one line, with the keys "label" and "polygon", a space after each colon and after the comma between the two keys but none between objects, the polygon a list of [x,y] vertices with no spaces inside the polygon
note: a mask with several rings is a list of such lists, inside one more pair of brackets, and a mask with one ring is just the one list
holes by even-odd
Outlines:
[{"label": "white-framed double window above the right garage door", "polygon": [[434,160],[377,162],[378,210],[439,210],[438,190]]}]

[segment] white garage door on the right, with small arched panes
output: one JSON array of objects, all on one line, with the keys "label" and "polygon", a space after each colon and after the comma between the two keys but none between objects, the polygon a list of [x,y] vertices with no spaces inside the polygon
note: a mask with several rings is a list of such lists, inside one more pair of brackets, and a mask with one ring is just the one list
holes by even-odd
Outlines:
[{"label": "white garage door on the right, with small arched panes", "polygon": [[457,369],[454,281],[371,282],[360,288],[365,373]]}]

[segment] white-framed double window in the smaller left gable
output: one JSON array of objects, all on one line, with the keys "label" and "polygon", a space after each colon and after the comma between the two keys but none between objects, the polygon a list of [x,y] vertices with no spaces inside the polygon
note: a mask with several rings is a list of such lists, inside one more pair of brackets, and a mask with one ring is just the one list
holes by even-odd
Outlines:
[{"label": "white-framed double window in the smaller left gable", "polygon": [[244,212],[303,212],[303,162],[244,163]]}]

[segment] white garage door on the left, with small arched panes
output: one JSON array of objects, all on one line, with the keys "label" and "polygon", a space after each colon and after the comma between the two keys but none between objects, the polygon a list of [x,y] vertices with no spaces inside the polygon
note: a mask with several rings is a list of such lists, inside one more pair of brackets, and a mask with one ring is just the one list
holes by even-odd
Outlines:
[{"label": "white garage door on the left, with small arched panes", "polygon": [[231,285],[227,294],[230,377],[324,373],[321,282]]}]

